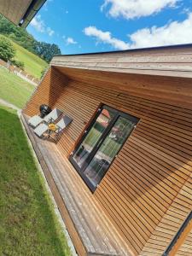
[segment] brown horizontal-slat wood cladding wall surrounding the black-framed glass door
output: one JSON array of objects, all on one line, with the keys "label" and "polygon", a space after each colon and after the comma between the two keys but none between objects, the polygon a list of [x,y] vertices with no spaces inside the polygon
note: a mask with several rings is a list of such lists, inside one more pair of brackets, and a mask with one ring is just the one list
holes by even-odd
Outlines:
[{"label": "brown horizontal-slat wood cladding wall surrounding the black-framed glass door", "polygon": [[[161,255],[192,208],[192,108],[184,101],[182,107],[181,100],[178,107],[177,100],[148,99],[144,90],[139,94],[137,75],[136,89],[132,82],[129,91],[120,90],[118,79],[110,84],[101,76],[96,83],[96,74],[75,79],[75,73],[67,77],[65,70],[49,68],[24,113],[32,116],[47,103],[73,118],[57,143],[67,157],[101,103],[140,119],[92,196],[135,255]],[[148,86],[155,79],[143,76]],[[172,78],[157,80],[164,84],[165,95],[166,85],[179,90]],[[191,81],[183,83],[188,88]],[[182,93],[187,96],[187,90]]]}]

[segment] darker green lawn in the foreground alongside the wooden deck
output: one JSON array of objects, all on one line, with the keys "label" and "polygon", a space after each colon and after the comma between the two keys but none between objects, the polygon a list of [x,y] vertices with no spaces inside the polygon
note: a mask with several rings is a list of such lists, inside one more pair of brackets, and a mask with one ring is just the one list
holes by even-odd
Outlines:
[{"label": "darker green lawn in the foreground alongside the wooden deck", "polygon": [[0,255],[71,255],[14,110],[0,132]]}]

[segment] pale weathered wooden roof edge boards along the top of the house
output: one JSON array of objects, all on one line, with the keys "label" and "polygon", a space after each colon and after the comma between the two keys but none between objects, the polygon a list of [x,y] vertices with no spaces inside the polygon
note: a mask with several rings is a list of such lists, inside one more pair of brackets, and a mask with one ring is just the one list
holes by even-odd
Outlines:
[{"label": "pale weathered wooden roof edge boards along the top of the house", "polygon": [[55,67],[192,78],[192,44],[80,55],[55,55]]}]

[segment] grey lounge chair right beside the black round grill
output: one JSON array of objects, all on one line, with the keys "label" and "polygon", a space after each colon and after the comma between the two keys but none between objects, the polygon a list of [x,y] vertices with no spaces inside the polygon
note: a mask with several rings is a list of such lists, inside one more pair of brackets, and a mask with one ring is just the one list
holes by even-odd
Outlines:
[{"label": "grey lounge chair right beside the black round grill", "polygon": [[62,112],[58,108],[54,108],[48,115],[43,118],[38,116],[37,114],[32,116],[31,119],[28,120],[28,124],[31,125],[33,128],[36,128],[41,123],[49,124],[55,122],[61,116]]}]

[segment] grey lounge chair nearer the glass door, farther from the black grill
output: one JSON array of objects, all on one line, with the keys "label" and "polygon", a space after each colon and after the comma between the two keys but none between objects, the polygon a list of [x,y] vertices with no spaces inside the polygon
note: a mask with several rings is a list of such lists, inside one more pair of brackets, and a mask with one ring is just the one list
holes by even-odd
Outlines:
[{"label": "grey lounge chair nearer the glass door, farther from the black grill", "polygon": [[64,115],[61,120],[56,124],[40,124],[37,128],[35,128],[34,132],[38,137],[52,137],[54,135],[54,139],[58,137],[62,131],[72,122],[73,119]]}]

